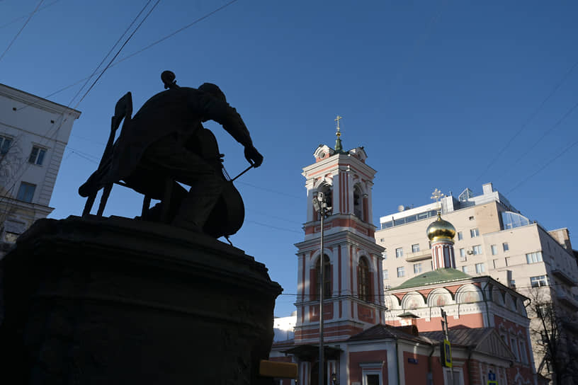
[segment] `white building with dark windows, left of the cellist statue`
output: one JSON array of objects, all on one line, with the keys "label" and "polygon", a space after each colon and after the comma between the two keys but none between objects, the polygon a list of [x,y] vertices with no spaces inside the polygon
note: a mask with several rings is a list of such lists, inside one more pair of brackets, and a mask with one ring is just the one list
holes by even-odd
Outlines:
[{"label": "white building with dark windows, left of the cellist statue", "polygon": [[47,217],[62,155],[80,112],[0,84],[0,257]]}]

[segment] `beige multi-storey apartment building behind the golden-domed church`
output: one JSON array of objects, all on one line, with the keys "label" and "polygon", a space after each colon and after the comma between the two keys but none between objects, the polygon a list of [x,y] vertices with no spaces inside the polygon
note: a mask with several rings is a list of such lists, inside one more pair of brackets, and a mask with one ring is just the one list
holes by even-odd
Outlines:
[{"label": "beige multi-storey apartment building behind the golden-domed church", "polygon": [[[432,270],[426,228],[436,211],[455,226],[456,268],[468,275],[489,275],[503,285],[532,298],[537,291],[552,299],[565,325],[578,319],[578,265],[568,229],[546,230],[524,217],[492,183],[482,186],[482,195],[465,189],[456,199],[420,207],[399,207],[380,217],[375,240],[385,248],[383,278],[385,291],[409,278]],[[534,294],[533,294],[534,293]],[[528,304],[525,304],[528,306]],[[533,320],[533,326],[538,320]],[[532,328],[532,325],[531,325]],[[574,334],[575,336],[575,334]],[[533,341],[536,369],[551,372],[540,354],[543,347]]]}]

